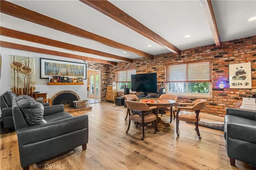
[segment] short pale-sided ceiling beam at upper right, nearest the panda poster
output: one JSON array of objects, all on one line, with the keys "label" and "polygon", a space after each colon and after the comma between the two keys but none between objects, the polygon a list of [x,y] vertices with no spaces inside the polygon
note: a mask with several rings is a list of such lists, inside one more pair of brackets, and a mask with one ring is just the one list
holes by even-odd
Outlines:
[{"label": "short pale-sided ceiling beam at upper right, nearest the panda poster", "polygon": [[212,1],[211,0],[199,0],[201,8],[204,12],[204,16],[206,21],[209,24],[210,30],[212,31],[212,36],[217,48],[221,47],[220,34],[217,26],[217,22],[215,19]]}]

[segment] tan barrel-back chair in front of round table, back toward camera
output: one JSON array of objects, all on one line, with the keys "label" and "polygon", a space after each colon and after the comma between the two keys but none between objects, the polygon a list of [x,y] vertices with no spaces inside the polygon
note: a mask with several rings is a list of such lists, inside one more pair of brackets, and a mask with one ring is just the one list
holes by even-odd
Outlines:
[{"label": "tan barrel-back chair in front of round table, back toward camera", "polygon": [[[156,106],[148,107],[145,103],[134,102],[134,101],[130,101],[130,100],[125,100],[124,102],[126,103],[127,110],[129,113],[129,125],[128,125],[126,133],[128,133],[128,131],[130,129],[131,120],[132,120],[132,121],[135,121],[138,123],[142,123],[142,140],[144,140],[144,138],[145,138],[144,123],[154,121],[154,124],[155,124],[154,133],[156,134],[156,132],[158,131],[157,116],[154,113],[152,113],[152,111],[153,110],[156,111],[157,107]],[[130,110],[141,111],[142,114],[132,113]],[[156,114],[157,114],[157,112],[156,112]]]}]

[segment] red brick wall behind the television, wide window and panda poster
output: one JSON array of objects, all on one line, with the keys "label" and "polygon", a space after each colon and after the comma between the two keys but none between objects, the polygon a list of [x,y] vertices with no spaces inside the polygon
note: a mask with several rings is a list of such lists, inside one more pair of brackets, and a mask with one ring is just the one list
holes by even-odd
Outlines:
[{"label": "red brick wall behind the television, wide window and panda poster", "polygon": [[[154,60],[140,58],[133,63],[120,62],[117,66],[111,65],[110,82],[115,81],[116,70],[126,68],[136,68],[138,74],[156,72],[158,75],[158,88],[161,82],[165,82],[165,64],[181,63],[186,61],[196,61],[212,59],[212,97],[206,98],[207,105],[203,112],[224,115],[226,107],[234,107],[236,102],[242,97],[248,97],[256,93],[256,35],[252,37],[226,41],[222,43],[222,48],[217,49],[215,45],[206,45],[193,49],[183,50],[181,55],[166,53],[154,56]],[[229,89],[228,64],[246,63],[252,64],[252,89]],[[224,91],[220,91],[218,83],[224,82]],[[165,86],[165,84],[164,84]],[[179,102],[192,102],[196,97],[179,96]]]}]

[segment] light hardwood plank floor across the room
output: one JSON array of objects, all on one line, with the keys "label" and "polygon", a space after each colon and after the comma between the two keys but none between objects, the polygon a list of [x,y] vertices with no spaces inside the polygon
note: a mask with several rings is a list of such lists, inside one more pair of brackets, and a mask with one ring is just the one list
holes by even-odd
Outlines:
[{"label": "light hardwood plank floor across the room", "polygon": [[[156,134],[153,127],[146,127],[145,140],[142,141],[142,128],[136,128],[134,123],[128,135],[125,133],[128,126],[128,121],[124,120],[126,108],[111,103],[91,106],[92,111],[72,113],[74,116],[89,116],[87,150],[76,148],[74,154],[54,162],[55,168],[51,169],[252,169],[241,161],[236,161],[236,167],[230,166],[221,131],[199,127],[202,136],[199,140],[194,125],[180,121],[180,136],[177,137],[174,120],[169,127],[160,125],[160,132]],[[169,121],[169,116],[170,113],[163,115],[162,119]],[[15,132],[1,132],[0,156],[1,170],[22,169]],[[46,168],[34,164],[30,169]]]}]

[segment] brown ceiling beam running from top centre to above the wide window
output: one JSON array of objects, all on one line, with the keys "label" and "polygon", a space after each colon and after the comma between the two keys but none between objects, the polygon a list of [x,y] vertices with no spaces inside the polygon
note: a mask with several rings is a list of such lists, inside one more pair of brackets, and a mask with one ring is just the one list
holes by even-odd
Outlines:
[{"label": "brown ceiling beam running from top centre to above the wide window", "polygon": [[144,37],[158,43],[159,45],[165,47],[166,49],[172,51],[173,53],[180,54],[180,49],[172,45],[170,42],[166,41],[164,38],[160,37],[157,33],[150,30],[148,27],[135,20],[124,11],[120,10],[112,3],[107,0],[80,0],[84,4],[94,8],[95,10],[105,14],[106,16],[112,18],[113,20],[122,23],[126,27],[140,33]]}]

